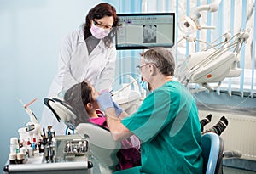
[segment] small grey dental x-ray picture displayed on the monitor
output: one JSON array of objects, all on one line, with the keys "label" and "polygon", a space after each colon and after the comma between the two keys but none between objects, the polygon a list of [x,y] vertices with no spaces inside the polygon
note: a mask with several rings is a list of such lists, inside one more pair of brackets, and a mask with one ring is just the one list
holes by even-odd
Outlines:
[{"label": "small grey dental x-ray picture displayed on the monitor", "polygon": [[143,43],[156,43],[157,25],[143,25]]}]

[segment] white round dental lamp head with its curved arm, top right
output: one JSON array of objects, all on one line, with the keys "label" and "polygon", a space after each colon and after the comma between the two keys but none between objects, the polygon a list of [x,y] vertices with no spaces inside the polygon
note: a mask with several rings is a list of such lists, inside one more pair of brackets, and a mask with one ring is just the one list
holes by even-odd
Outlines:
[{"label": "white round dental lamp head with its curved arm, top right", "polygon": [[178,28],[180,29],[180,31],[189,36],[197,30],[214,29],[214,26],[199,25],[198,19],[201,18],[201,11],[216,12],[218,10],[220,2],[221,0],[215,0],[208,5],[201,5],[195,8],[195,10],[189,15],[189,17],[185,16],[178,22]]}]

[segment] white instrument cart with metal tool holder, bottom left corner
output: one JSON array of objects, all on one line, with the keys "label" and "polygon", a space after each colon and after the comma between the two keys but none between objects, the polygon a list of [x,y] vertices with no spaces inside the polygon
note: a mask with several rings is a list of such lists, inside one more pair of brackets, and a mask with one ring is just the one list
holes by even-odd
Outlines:
[{"label": "white instrument cart with metal tool holder, bottom left corner", "polygon": [[3,171],[15,174],[93,173],[88,142],[84,138],[78,136],[56,136],[53,152],[53,158],[46,158],[45,153],[39,153],[32,157],[26,157],[23,164],[8,163],[4,166]]}]

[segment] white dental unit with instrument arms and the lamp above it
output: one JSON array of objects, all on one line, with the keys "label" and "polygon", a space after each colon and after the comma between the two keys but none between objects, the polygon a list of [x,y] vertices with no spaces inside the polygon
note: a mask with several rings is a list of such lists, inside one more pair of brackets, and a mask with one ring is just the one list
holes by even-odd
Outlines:
[{"label": "white dental unit with instrument arms and the lamp above it", "polygon": [[[242,45],[246,43],[250,36],[250,30],[239,31],[234,36],[231,36],[230,32],[227,32],[211,43],[191,36],[197,30],[213,28],[212,26],[201,27],[197,20],[201,17],[201,11],[216,12],[220,2],[220,0],[216,0],[209,5],[201,5],[195,8],[189,17],[183,18],[178,24],[179,29],[186,36],[183,36],[176,43],[176,47],[183,39],[187,42],[203,42],[207,45],[201,51],[196,51],[195,44],[195,53],[189,53],[187,59],[177,66],[175,76],[186,87],[189,83],[197,83],[201,87],[204,87],[204,90],[208,89],[212,91],[220,87],[221,82],[225,78],[241,75],[242,70],[239,65],[240,51]],[[222,37],[224,37],[224,41],[217,42]],[[214,83],[218,83],[218,85],[213,87],[212,84],[214,85]],[[201,91],[202,89],[198,90]]]}]

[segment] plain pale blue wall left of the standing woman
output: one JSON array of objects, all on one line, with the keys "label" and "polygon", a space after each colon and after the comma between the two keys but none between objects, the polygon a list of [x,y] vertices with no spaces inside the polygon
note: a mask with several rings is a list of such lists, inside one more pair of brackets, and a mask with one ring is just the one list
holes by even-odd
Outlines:
[{"label": "plain pale blue wall left of the standing woman", "polygon": [[0,0],[0,173],[9,138],[29,121],[19,98],[40,120],[43,100],[57,71],[61,39],[84,22],[96,0]]}]

